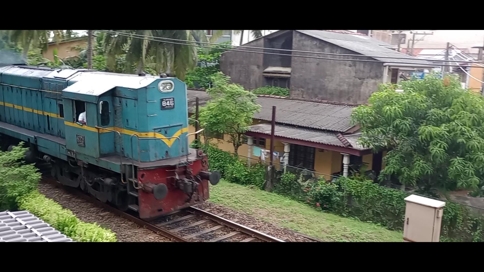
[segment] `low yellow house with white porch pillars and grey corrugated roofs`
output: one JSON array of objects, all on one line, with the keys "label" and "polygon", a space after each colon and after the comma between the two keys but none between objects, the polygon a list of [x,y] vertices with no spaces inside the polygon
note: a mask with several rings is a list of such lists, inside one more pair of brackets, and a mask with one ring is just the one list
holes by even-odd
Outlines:
[{"label": "low yellow house with white porch pillars and grey corrugated roofs", "polygon": [[[199,106],[210,99],[205,91],[188,90],[189,114],[195,113],[196,98]],[[276,168],[297,167],[316,172],[330,180],[333,176],[348,175],[348,167],[366,165],[376,174],[382,168],[382,153],[373,154],[358,143],[358,126],[350,123],[351,111],[357,104],[307,100],[271,95],[258,95],[260,112],[245,133],[247,143],[239,147],[240,157],[247,163],[266,160],[262,156],[271,146],[272,106],[276,106],[274,151]],[[195,127],[189,127],[189,133]],[[212,143],[220,149],[234,152],[226,135],[211,135]],[[190,142],[195,136],[190,136]],[[203,140],[203,138],[202,138]],[[267,156],[268,157],[268,154]]]}]

